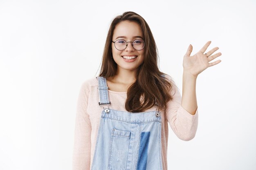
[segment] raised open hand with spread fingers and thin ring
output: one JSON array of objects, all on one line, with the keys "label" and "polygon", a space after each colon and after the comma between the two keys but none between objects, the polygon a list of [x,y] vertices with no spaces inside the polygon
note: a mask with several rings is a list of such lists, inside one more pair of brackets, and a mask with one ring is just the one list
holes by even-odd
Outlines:
[{"label": "raised open hand with spread fingers and thin ring", "polygon": [[184,55],[183,58],[183,69],[184,71],[190,73],[191,75],[197,77],[202,71],[204,71],[206,68],[210,66],[214,66],[221,62],[221,60],[217,60],[215,62],[209,63],[211,60],[215,59],[216,57],[219,57],[221,53],[216,53],[212,55],[215,51],[219,49],[219,47],[215,47],[208,51],[206,54],[209,56],[207,57],[204,52],[207,50],[208,46],[211,44],[211,41],[208,41],[200,51],[198,51],[195,55],[191,55],[192,52],[192,45],[189,45],[189,48]]}]

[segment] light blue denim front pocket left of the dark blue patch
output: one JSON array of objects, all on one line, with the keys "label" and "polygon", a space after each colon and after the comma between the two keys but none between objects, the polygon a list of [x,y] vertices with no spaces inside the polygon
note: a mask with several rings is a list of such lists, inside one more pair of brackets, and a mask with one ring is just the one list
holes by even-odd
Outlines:
[{"label": "light blue denim front pocket left of the dark blue patch", "polygon": [[130,146],[129,131],[112,129],[109,147],[109,170],[126,170]]}]

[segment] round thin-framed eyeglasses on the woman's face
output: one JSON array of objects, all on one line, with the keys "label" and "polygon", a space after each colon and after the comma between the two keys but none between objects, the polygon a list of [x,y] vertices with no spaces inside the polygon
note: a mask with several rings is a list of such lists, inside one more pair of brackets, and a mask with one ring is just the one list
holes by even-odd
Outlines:
[{"label": "round thin-framed eyeglasses on the woman's face", "polygon": [[[115,47],[117,50],[122,51],[126,49],[126,47],[128,46],[128,42],[131,42],[131,41],[126,42],[126,40],[116,40],[115,42],[114,41],[112,42],[115,43]],[[132,42],[132,47],[135,50],[142,50],[144,46],[145,46],[145,42],[143,40],[134,40]]]}]

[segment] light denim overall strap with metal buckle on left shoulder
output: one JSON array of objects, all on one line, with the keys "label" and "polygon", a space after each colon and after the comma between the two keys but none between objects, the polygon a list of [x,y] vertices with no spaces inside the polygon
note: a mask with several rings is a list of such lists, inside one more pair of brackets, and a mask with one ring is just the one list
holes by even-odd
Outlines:
[{"label": "light denim overall strap with metal buckle on left shoulder", "polygon": [[108,99],[108,86],[107,79],[105,77],[96,77],[98,79],[98,91],[99,91],[99,106],[110,105]]}]

